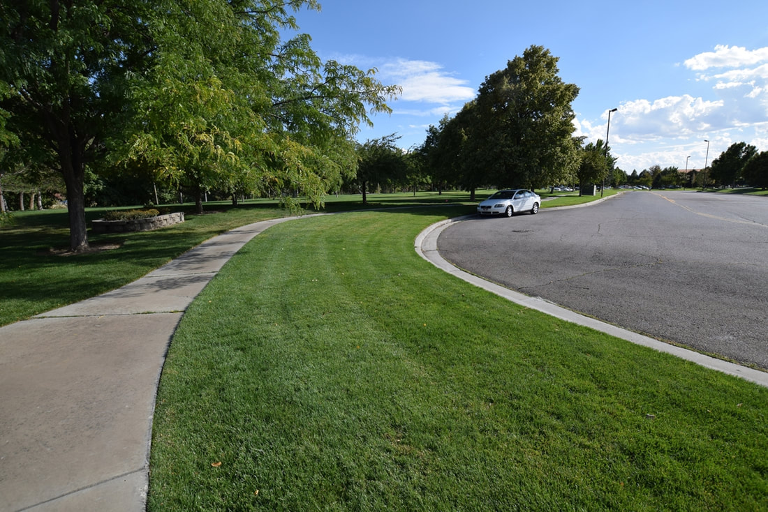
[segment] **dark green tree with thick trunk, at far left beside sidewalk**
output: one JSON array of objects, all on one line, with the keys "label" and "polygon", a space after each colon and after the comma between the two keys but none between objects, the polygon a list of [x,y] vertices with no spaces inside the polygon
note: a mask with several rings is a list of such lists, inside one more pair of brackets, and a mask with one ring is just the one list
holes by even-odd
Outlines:
[{"label": "dark green tree with thick trunk, at far left beside sidewalk", "polygon": [[26,146],[55,154],[73,250],[88,248],[85,167],[98,164],[124,126],[129,73],[153,58],[153,11],[141,0],[0,4],[0,88],[8,91],[0,108]]}]

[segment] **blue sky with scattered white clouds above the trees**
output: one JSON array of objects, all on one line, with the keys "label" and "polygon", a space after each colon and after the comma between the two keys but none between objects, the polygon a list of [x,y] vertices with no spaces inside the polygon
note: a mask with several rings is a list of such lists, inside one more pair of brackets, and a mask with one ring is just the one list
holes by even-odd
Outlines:
[{"label": "blue sky with scattered white clouds above the trees", "polygon": [[[768,2],[321,0],[296,14],[323,60],[377,68],[402,86],[392,115],[359,140],[396,133],[418,146],[426,129],[472,100],[485,77],[531,45],[559,58],[581,89],[575,134],[608,137],[627,173],[658,164],[704,166],[730,144],[768,150]],[[687,158],[690,157],[690,158]]]}]

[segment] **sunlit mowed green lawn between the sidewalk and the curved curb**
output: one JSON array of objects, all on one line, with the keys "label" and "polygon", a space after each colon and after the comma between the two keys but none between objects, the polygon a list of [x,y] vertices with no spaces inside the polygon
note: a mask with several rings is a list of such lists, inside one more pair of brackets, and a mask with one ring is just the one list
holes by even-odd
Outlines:
[{"label": "sunlit mowed green lawn between the sidewalk and the curved curb", "polygon": [[282,223],[190,306],[149,510],[768,510],[768,389],[516,306],[417,234]]}]

